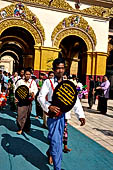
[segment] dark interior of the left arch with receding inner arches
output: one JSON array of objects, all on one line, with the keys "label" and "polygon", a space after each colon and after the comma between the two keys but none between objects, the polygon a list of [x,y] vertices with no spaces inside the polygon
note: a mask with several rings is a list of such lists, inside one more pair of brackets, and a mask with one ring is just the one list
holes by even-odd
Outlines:
[{"label": "dark interior of the left arch with receding inner arches", "polygon": [[32,35],[24,28],[9,27],[0,37],[0,58],[13,58],[13,70],[34,66],[34,45]]}]

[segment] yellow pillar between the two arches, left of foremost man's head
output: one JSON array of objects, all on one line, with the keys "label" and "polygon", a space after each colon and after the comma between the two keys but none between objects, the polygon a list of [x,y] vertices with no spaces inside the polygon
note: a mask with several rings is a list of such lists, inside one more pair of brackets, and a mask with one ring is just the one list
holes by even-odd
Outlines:
[{"label": "yellow pillar between the two arches, left of foremost man's head", "polygon": [[35,46],[34,70],[52,70],[52,62],[58,57],[59,51],[57,48]]}]

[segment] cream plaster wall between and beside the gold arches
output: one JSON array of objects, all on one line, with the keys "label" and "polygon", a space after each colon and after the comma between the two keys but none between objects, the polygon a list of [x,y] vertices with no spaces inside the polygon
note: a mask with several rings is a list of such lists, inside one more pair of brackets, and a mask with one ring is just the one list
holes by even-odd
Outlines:
[{"label": "cream plaster wall between and beside the gold arches", "polygon": [[[75,2],[69,2],[67,1],[73,8]],[[11,3],[1,1],[0,8],[4,8],[7,5],[10,5]],[[52,11],[42,8],[36,8],[27,6],[40,20],[42,26],[44,27],[45,31],[45,37],[46,40],[44,42],[45,47],[52,47],[52,41],[51,41],[51,35],[54,30],[54,28],[61,22],[65,17],[69,17],[72,14],[69,14],[68,12],[59,12],[59,11]],[[85,9],[90,7],[89,5],[81,4],[80,9]],[[107,52],[107,45],[108,45],[108,32],[109,32],[109,21],[103,20],[103,19],[96,19],[92,17],[83,17],[89,25],[93,28],[96,39],[97,39],[97,45],[95,47],[96,52]]]}]

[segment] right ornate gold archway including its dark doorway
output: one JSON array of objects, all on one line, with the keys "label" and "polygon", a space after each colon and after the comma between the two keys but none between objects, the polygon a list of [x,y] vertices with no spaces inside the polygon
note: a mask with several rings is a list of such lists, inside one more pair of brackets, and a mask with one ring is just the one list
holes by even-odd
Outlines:
[{"label": "right ornate gold archway including its dark doorway", "polygon": [[81,15],[64,18],[54,29],[53,47],[61,48],[67,63],[67,73],[76,74],[82,79],[87,74],[87,53],[96,46],[96,35],[92,27]]}]

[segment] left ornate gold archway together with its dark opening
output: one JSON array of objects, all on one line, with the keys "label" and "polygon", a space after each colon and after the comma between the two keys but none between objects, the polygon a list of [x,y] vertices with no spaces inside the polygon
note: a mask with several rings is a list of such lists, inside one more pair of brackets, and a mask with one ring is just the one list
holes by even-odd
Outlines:
[{"label": "left ornate gold archway together with its dark opening", "polygon": [[[35,46],[44,45],[45,33],[39,19],[22,3],[0,10],[1,54],[18,56],[19,67],[34,67]],[[11,49],[11,53],[7,50]]]}]

